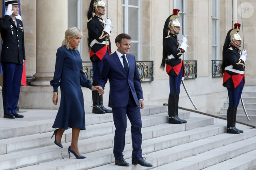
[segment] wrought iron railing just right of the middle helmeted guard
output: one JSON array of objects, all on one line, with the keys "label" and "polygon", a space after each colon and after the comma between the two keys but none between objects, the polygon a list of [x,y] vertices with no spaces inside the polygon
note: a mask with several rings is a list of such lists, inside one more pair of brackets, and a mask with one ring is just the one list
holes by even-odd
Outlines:
[{"label": "wrought iron railing just right of the middle helmeted guard", "polygon": [[184,60],[184,69],[185,69],[184,79],[197,78],[197,61],[196,60]]}]

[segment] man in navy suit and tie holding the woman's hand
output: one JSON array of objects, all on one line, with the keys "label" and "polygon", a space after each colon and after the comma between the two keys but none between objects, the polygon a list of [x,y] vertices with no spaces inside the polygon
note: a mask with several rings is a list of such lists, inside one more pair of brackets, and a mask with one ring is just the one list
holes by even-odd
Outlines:
[{"label": "man in navy suit and tie holding the woman's hand", "polygon": [[[115,43],[117,51],[103,59],[102,74],[98,86],[104,89],[109,79],[109,107],[113,110],[113,119],[116,127],[115,143],[113,153],[115,164],[129,166],[124,160],[124,145],[126,132],[126,115],[130,120],[132,132],[132,164],[141,166],[152,166],[145,162],[142,157],[141,143],[141,116],[143,109],[143,94],[135,57],[129,53],[131,36],[119,34]],[[99,89],[103,94],[104,90]]]}]

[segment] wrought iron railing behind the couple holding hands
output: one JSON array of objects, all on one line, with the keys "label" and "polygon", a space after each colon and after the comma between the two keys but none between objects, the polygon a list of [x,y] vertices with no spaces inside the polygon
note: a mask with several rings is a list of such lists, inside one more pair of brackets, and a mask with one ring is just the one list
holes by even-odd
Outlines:
[{"label": "wrought iron railing behind the couple holding hands", "polygon": [[[91,61],[83,61],[83,72],[87,79],[93,80],[93,69]],[[154,81],[154,61],[137,61],[137,68],[141,82]]]}]

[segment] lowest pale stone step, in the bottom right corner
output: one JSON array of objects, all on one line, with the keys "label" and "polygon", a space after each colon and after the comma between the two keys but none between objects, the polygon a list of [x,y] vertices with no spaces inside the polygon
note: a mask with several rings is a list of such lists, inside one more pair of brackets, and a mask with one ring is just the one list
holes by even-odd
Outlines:
[{"label": "lowest pale stone step, in the bottom right corner", "polygon": [[256,150],[210,166],[205,170],[248,170],[256,166]]}]

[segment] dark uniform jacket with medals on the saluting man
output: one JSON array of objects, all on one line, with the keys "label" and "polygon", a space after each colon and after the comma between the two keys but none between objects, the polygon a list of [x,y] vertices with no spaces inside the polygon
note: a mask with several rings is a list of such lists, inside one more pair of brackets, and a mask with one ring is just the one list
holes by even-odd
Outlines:
[{"label": "dark uniform jacket with medals on the saluting man", "polygon": [[16,21],[17,27],[9,15],[0,18],[0,33],[3,40],[1,62],[23,64],[23,59],[26,59],[23,23],[17,18]]}]

